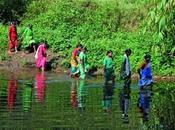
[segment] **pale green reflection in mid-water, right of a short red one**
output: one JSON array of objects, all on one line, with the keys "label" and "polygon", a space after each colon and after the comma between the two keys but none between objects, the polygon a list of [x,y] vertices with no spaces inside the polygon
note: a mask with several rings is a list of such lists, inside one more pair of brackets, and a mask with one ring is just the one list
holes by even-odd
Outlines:
[{"label": "pale green reflection in mid-water, right of a short red one", "polygon": [[78,108],[80,110],[85,110],[86,97],[87,97],[87,87],[85,85],[85,80],[80,80],[78,87]]}]

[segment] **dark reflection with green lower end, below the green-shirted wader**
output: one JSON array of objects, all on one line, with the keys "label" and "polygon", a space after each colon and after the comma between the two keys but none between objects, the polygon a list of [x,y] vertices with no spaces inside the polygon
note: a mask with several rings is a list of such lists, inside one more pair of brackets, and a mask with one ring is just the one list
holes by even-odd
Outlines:
[{"label": "dark reflection with green lower end, below the green-shirted wader", "polygon": [[113,96],[113,84],[106,84],[103,87],[103,101],[102,101],[102,105],[103,105],[103,110],[105,112],[110,112],[112,109],[112,96]]}]

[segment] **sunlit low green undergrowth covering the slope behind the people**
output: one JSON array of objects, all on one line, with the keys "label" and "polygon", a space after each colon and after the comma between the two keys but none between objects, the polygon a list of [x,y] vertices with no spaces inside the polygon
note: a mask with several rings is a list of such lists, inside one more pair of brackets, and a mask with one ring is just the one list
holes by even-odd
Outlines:
[{"label": "sunlit low green undergrowth covering the slope behind the people", "polygon": [[138,30],[147,12],[146,9],[140,11],[140,8],[148,2],[50,0],[48,5],[47,0],[33,1],[22,25],[33,24],[35,39],[46,39],[52,51],[66,58],[62,65],[68,66],[73,48],[81,42],[88,47],[91,66],[102,67],[106,51],[112,49],[117,71],[124,50],[131,48],[135,70],[144,53],[150,51],[150,45],[156,42]]}]

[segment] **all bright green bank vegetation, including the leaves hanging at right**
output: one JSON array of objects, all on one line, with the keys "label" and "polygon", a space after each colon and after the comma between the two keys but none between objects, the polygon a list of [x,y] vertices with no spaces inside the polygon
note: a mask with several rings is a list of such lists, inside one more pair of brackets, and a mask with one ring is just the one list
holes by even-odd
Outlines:
[{"label": "all bright green bank vegetation, including the leaves hanging at right", "polygon": [[[33,0],[19,19],[19,33],[32,24],[35,40],[47,40],[53,52],[65,57],[63,66],[81,42],[91,66],[101,68],[112,49],[118,72],[124,50],[131,48],[133,71],[149,52],[156,74],[175,75],[173,7],[174,0]],[[1,37],[7,47],[7,35]]]}]

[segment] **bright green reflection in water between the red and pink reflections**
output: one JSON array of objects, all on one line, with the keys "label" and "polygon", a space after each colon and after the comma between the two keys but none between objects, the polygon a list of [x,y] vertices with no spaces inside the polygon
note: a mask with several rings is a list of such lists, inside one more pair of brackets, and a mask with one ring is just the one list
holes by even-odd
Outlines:
[{"label": "bright green reflection in water between the red and pink reflections", "polygon": [[23,90],[23,109],[25,112],[30,111],[32,100],[32,83],[26,83]]}]

